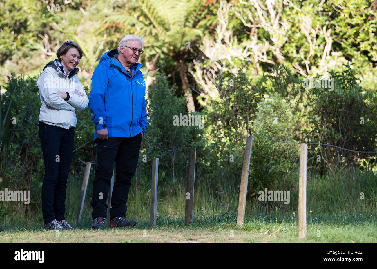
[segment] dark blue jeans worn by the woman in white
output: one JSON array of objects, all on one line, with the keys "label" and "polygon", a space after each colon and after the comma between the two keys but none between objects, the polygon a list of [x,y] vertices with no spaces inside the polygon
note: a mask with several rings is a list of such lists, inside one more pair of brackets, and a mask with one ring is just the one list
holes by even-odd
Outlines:
[{"label": "dark blue jeans worn by the woman in white", "polygon": [[69,167],[72,160],[75,128],[68,130],[38,123],[44,160],[42,214],[44,224],[64,220]]}]

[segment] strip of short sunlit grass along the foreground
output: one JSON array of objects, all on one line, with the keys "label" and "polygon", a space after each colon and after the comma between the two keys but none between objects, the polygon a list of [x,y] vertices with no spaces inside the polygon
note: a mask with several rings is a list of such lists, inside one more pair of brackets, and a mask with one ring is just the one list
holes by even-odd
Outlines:
[{"label": "strip of short sunlit grass along the foreground", "polygon": [[[70,231],[44,231],[37,223],[27,223],[0,233],[1,242],[377,242],[375,221],[334,223],[329,216],[319,216],[307,224],[307,236],[298,238],[298,222],[247,219],[242,228],[236,216],[194,219],[185,225],[183,218],[158,217],[157,226],[138,222],[137,228],[106,228],[93,231],[88,223]],[[233,222],[228,222],[233,219]],[[227,221],[224,221],[227,220]],[[85,227],[83,227],[85,226]]]}]

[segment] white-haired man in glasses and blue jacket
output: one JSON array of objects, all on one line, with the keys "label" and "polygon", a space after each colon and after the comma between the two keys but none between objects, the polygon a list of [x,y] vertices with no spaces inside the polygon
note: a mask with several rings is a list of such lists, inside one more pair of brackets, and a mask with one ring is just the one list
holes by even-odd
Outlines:
[{"label": "white-haired man in glasses and blue jacket", "polygon": [[126,219],[131,177],[135,174],[140,143],[147,130],[145,82],[139,60],[144,38],[126,35],[118,49],[106,52],[92,76],[89,108],[97,140],[97,170],[90,205],[92,229],[104,228],[107,195],[113,174],[116,177],[111,197],[110,225],[135,226]]}]

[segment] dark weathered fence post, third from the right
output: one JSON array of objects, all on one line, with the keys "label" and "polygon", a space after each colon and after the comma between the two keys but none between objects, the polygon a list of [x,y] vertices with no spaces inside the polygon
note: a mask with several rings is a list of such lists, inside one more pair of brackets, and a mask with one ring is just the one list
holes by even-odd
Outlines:
[{"label": "dark weathered fence post, third from the right", "polygon": [[190,148],[189,171],[187,173],[185,223],[192,224],[192,214],[194,208],[194,185],[195,185],[195,160],[196,148]]}]

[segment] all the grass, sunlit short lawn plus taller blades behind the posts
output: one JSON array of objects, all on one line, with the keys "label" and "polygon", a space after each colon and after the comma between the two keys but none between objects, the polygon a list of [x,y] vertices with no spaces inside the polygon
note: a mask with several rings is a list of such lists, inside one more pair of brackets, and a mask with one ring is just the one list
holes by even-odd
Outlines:
[{"label": "all the grass, sunlit short lawn plus taller blades behind the posts", "polygon": [[[137,228],[92,231],[91,184],[81,222],[75,225],[80,181],[70,178],[66,199],[66,220],[77,229],[59,234],[44,231],[40,210],[31,219],[3,214],[0,242],[377,242],[377,182],[371,171],[347,169],[338,171],[336,177],[308,173],[305,239],[298,238],[297,184],[291,189],[289,205],[253,202],[255,196],[250,197],[244,226],[239,228],[238,186],[230,184],[211,190],[204,180],[196,179],[193,224],[186,225],[184,182],[175,188],[159,182],[157,225],[149,228],[150,185],[133,183],[126,217],[135,220]],[[360,199],[360,192],[364,193],[364,200]]]}]

